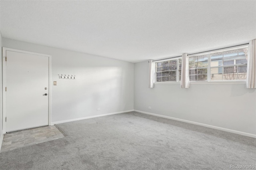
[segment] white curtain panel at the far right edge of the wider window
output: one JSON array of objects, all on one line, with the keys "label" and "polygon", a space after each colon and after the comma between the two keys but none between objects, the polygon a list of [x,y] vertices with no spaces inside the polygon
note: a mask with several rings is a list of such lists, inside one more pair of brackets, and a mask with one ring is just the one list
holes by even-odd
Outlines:
[{"label": "white curtain panel at the far right edge of the wider window", "polygon": [[248,46],[246,88],[256,89],[256,41],[251,40]]}]

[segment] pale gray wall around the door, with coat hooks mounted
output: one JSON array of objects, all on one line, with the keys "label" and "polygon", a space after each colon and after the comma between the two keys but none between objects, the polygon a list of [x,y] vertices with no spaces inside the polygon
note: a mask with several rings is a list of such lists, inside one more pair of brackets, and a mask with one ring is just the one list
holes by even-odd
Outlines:
[{"label": "pale gray wall around the door, with coat hooks mounted", "polygon": [[[2,46],[52,55],[52,122],[134,107],[133,63],[6,38]],[[76,79],[59,79],[58,74],[76,75]]]}]

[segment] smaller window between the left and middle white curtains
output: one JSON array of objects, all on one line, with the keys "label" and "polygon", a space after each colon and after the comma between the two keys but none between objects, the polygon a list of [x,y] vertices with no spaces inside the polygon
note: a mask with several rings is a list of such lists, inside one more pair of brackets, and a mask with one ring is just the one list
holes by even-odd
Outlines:
[{"label": "smaller window between the left and middle white curtains", "polygon": [[168,61],[156,62],[156,82],[180,81],[181,58]]}]

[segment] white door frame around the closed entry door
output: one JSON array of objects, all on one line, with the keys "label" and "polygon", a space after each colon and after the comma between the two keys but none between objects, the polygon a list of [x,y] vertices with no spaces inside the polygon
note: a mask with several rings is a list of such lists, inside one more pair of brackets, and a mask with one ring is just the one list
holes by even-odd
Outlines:
[{"label": "white door frame around the closed entry door", "polygon": [[[52,99],[52,88],[51,88],[51,81],[52,81],[52,55],[47,55],[47,54],[42,54],[42,53],[34,53],[30,51],[23,51],[19,49],[12,49],[12,48],[6,48],[2,47],[2,75],[3,75],[3,88],[2,88],[2,94],[3,94],[3,119],[2,119],[2,125],[3,125],[3,133],[6,133],[6,122],[5,122],[5,117],[6,117],[6,51],[14,51],[14,52],[19,52],[19,53],[26,53],[26,54],[32,54],[32,55],[39,55],[39,56],[44,56],[49,58],[49,63],[48,63],[48,126],[51,125],[51,99]],[[7,59],[8,61],[8,59]]]}]

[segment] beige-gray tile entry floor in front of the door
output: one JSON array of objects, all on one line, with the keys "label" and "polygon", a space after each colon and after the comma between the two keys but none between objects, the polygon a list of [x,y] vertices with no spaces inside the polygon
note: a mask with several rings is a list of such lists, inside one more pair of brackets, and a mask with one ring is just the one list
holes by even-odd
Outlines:
[{"label": "beige-gray tile entry floor in front of the door", "polygon": [[64,135],[62,132],[60,132],[54,125],[10,132],[4,134],[1,152],[63,137]]}]

